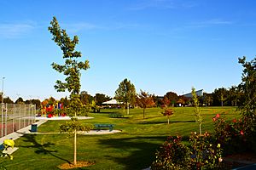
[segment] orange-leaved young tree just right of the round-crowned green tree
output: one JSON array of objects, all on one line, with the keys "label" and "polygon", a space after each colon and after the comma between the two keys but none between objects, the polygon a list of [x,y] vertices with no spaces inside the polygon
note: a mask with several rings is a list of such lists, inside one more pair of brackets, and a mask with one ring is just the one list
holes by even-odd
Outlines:
[{"label": "orange-leaved young tree just right of the round-crowned green tree", "polygon": [[154,105],[154,100],[151,94],[148,94],[146,92],[143,92],[141,90],[141,93],[137,96],[137,105],[141,108],[143,108],[143,119],[145,118],[145,110],[148,107],[151,107]]}]

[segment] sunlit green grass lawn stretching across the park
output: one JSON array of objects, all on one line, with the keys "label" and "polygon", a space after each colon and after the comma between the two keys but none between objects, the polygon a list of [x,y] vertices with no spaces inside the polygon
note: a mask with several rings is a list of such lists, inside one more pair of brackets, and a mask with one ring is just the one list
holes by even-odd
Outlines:
[{"label": "sunlit green grass lawn stretching across the park", "polygon": [[[113,123],[114,129],[121,133],[78,136],[78,161],[95,161],[91,167],[78,169],[143,169],[154,161],[154,153],[168,136],[181,135],[188,139],[191,132],[198,132],[194,108],[174,108],[174,115],[167,124],[160,108],[146,110],[143,119],[142,109],[131,109],[130,115],[123,110],[102,110],[90,114],[95,117],[83,123]],[[125,115],[112,118],[113,112]],[[203,116],[202,131],[212,132],[212,117],[216,114],[228,120],[239,117],[235,107],[201,108]],[[59,132],[62,121],[48,121],[38,127],[38,132]],[[58,169],[61,163],[73,161],[73,136],[68,134],[26,134],[15,140],[19,150],[13,154],[14,160],[4,159],[7,169]]]}]

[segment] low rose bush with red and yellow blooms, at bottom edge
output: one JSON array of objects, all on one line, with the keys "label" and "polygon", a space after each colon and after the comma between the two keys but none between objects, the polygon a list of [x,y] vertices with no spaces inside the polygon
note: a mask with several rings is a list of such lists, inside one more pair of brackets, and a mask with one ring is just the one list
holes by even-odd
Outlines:
[{"label": "low rose bush with red and yellow blooms, at bottom edge", "polygon": [[209,133],[192,133],[187,147],[181,137],[169,137],[156,152],[151,169],[219,169],[223,167],[221,144],[212,141]]}]

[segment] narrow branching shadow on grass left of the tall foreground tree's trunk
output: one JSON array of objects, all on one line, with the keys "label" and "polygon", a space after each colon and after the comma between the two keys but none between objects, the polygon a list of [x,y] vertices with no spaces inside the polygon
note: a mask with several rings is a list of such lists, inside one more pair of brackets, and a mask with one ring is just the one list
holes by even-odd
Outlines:
[{"label": "narrow branching shadow on grass left of the tall foreground tree's trunk", "polygon": [[51,146],[54,146],[55,144],[50,143],[50,142],[47,142],[45,144],[39,144],[36,137],[37,137],[37,134],[32,134],[32,133],[27,134],[27,133],[25,133],[23,135],[23,138],[24,138],[23,141],[27,142],[30,145],[20,145],[19,147],[33,148],[33,149],[35,149],[36,154],[44,154],[44,155],[49,154],[50,156],[54,156],[57,159],[60,159],[62,161],[67,161],[68,163],[71,163],[70,161],[68,161],[64,158],[61,158],[60,156],[55,156],[54,153],[57,153],[58,152],[57,150],[50,150],[49,149]]}]

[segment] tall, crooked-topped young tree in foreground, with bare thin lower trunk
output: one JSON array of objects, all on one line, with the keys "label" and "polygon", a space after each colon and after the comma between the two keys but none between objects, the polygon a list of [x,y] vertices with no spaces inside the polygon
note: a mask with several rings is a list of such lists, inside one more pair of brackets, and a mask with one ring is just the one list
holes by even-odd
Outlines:
[{"label": "tall, crooked-topped young tree in foreground, with bare thin lower trunk", "polygon": [[[68,114],[70,116],[74,116],[75,118],[73,120],[73,132],[74,132],[74,157],[73,157],[73,163],[74,165],[77,164],[77,130],[81,126],[78,125],[78,119],[76,118],[77,114],[82,110],[82,103],[79,99],[79,93],[80,93],[80,77],[82,70],[89,69],[89,61],[85,60],[79,61],[79,58],[82,57],[81,52],[76,51],[75,47],[79,43],[79,37],[74,36],[73,39],[71,39],[67,32],[59,26],[58,21],[55,17],[53,17],[53,20],[50,22],[50,25],[48,27],[49,32],[52,34],[53,38],[52,40],[55,41],[55,43],[61,48],[63,53],[63,59],[65,59],[65,64],[58,65],[56,63],[52,63],[52,68],[55,71],[58,71],[59,73],[62,73],[66,76],[66,79],[64,82],[61,82],[61,80],[57,80],[55,82],[55,89],[58,92],[65,92],[66,90],[70,92],[70,105],[68,108]],[[63,127],[63,126],[62,126]]]}]

